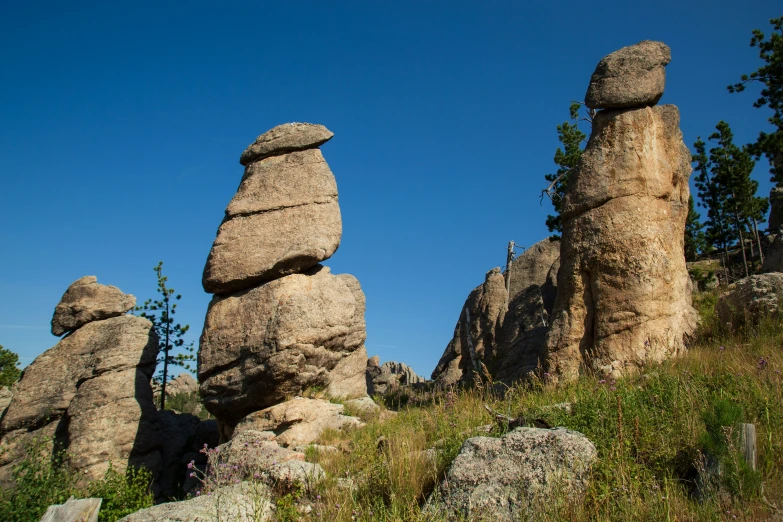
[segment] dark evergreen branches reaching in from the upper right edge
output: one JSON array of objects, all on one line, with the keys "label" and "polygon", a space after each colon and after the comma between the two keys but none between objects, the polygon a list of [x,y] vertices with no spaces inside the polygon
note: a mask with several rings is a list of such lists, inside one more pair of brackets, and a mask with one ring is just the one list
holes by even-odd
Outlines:
[{"label": "dark evergreen branches reaching in from the upper right edge", "polygon": [[741,81],[729,85],[728,89],[729,92],[742,92],[752,82],[763,85],[761,95],[753,106],[766,106],[772,110],[769,122],[775,130],[771,133],[760,132],[750,150],[756,158],[762,154],[766,156],[772,174],[770,181],[783,186],[783,16],[769,22],[773,28],[769,40],[759,29],[753,30],[753,37],[750,39],[750,46],[758,47],[759,57],[764,65],[750,74],[743,74]]}]

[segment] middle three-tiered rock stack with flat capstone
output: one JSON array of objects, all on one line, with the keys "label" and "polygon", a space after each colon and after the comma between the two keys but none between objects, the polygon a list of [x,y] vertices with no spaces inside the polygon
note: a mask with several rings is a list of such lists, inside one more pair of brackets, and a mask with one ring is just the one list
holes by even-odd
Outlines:
[{"label": "middle three-tiered rock stack with flat capstone", "polygon": [[242,154],[245,173],[204,269],[216,294],[201,335],[200,394],[224,439],[246,415],[306,389],[367,394],[364,293],[320,265],[342,234],[322,125],[284,124]]}]

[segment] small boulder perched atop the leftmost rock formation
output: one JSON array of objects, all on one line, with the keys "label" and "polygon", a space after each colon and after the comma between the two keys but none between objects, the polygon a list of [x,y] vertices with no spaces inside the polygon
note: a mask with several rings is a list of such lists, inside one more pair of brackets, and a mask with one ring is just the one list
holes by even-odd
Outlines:
[{"label": "small boulder perched atop the leftmost rock formation", "polygon": [[55,307],[52,333],[60,336],[90,321],[122,315],[135,305],[132,295],[116,286],[98,284],[95,276],[84,276],[71,283]]}]

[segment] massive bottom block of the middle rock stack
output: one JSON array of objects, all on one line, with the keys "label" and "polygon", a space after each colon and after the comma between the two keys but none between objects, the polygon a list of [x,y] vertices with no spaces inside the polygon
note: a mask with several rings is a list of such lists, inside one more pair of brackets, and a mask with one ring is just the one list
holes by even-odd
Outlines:
[{"label": "massive bottom block of the middle rock stack", "polygon": [[204,405],[233,426],[307,388],[367,395],[364,309],[356,278],[323,266],[215,296],[198,356]]}]

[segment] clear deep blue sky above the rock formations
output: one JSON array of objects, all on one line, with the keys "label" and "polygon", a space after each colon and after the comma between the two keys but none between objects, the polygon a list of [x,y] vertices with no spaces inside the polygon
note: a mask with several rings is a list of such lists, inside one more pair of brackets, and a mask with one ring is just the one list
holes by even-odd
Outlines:
[{"label": "clear deep blue sky above the rock formations", "polygon": [[[367,295],[367,349],[429,376],[506,243],[548,235],[555,126],[598,60],[672,48],[661,103],[685,141],[766,127],[751,30],[779,1],[2,2],[0,344],[24,365],[57,339],[84,275],[143,300],[164,261],[198,338],[204,267],[269,128],[321,123],[343,240],[325,264]],[[768,32],[768,31],[767,31]],[[757,166],[762,193],[766,165]]]}]

